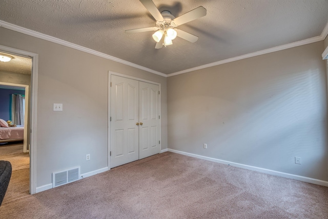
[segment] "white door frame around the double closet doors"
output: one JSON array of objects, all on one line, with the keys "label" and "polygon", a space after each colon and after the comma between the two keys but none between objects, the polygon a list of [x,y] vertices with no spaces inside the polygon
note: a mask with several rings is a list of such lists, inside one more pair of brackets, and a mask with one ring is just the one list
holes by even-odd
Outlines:
[{"label": "white door frame around the double closet doors", "polygon": [[[110,151],[111,151],[111,121],[110,121],[110,116],[111,116],[111,77],[112,75],[116,75],[116,76],[120,76],[120,77],[125,77],[125,78],[130,78],[130,79],[134,79],[137,81],[141,81],[141,82],[146,82],[146,83],[150,83],[150,84],[154,84],[154,85],[158,85],[159,86],[159,115],[161,116],[161,90],[160,90],[160,83],[157,82],[152,82],[152,81],[148,81],[146,79],[142,79],[139,77],[134,77],[134,76],[130,76],[130,75],[126,75],[126,74],[121,74],[121,73],[117,73],[117,72],[113,72],[113,71],[108,71],[108,140],[107,140],[107,154],[108,154],[108,159],[107,159],[107,166],[108,166],[108,170],[111,169],[111,156],[110,156]],[[159,119],[159,141],[161,141],[161,117]],[[161,151],[161,144],[159,144],[159,153]]]}]

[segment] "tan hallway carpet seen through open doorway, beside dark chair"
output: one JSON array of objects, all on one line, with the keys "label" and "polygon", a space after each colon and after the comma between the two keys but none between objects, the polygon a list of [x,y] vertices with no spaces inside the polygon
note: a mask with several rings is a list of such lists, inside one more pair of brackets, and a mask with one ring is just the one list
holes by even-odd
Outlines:
[{"label": "tan hallway carpet seen through open doorway, beside dark chair", "polygon": [[[29,196],[30,156],[29,153],[23,153],[23,145],[0,147],[0,160],[9,161],[12,167],[9,186],[2,205]],[[0,213],[1,211],[2,207]]]}]

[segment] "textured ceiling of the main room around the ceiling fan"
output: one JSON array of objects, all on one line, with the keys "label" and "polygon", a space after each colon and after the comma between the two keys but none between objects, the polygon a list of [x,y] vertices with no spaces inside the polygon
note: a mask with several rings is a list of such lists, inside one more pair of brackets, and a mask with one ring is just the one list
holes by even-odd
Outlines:
[{"label": "textured ceiling of the main room around the ceiling fan", "polygon": [[138,0],[2,0],[0,19],[165,74],[319,36],[328,21],[326,0],[159,1],[178,17],[203,6],[207,15],[179,26],[199,36],[155,49],[155,19]]}]

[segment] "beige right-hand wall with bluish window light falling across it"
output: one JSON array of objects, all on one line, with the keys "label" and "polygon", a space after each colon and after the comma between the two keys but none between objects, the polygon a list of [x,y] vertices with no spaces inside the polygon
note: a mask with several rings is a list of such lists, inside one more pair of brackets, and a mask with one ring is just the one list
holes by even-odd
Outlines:
[{"label": "beige right-hand wall with bluish window light falling across it", "polygon": [[168,77],[169,148],[327,181],[322,48],[321,41]]}]

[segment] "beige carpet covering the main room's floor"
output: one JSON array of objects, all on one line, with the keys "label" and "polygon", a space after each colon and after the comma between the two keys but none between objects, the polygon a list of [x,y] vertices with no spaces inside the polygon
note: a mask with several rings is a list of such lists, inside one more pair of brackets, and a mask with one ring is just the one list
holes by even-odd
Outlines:
[{"label": "beige carpet covering the main room's floor", "polygon": [[327,218],[328,188],[165,152],[0,207],[2,218]]}]

